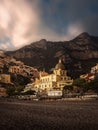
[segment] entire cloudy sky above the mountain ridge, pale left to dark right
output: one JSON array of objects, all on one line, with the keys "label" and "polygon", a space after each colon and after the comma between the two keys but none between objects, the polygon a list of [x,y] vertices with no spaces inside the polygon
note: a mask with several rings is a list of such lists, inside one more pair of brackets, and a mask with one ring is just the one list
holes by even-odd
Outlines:
[{"label": "entire cloudy sky above the mountain ridge, pale left to dark right", "polygon": [[98,36],[98,0],[0,0],[0,49]]}]

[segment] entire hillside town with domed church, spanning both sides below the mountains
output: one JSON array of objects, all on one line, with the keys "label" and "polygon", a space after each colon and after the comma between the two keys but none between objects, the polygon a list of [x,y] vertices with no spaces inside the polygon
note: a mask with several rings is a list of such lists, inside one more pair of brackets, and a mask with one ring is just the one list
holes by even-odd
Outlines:
[{"label": "entire hillside town with domed church, spanning both sides below the mountains", "polygon": [[[96,77],[98,77],[98,63],[91,68],[89,73],[80,75],[79,80],[85,80],[85,84],[87,84],[91,83]],[[26,82],[27,79],[28,81]],[[55,65],[53,72],[49,74],[45,72],[45,70],[38,71],[34,67],[25,65],[22,61],[17,61],[13,57],[6,56],[2,51],[0,52],[1,97],[21,95],[24,93],[40,96],[47,95],[50,97],[60,97],[64,92],[78,94],[81,92],[79,88],[77,88],[79,84],[75,84],[74,82],[75,80],[68,75],[61,58]],[[82,83],[80,86],[81,85]],[[69,91],[69,88],[72,86],[73,91]],[[10,88],[12,90],[14,89],[14,94],[9,94],[9,91],[12,91]],[[18,93],[18,91],[20,93]]]}]

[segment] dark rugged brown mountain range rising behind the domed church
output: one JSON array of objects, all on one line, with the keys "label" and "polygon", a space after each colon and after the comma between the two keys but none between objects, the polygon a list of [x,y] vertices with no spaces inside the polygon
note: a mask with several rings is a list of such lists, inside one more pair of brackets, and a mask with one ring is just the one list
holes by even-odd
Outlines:
[{"label": "dark rugged brown mountain range rising behind the domed church", "polygon": [[31,43],[19,50],[6,52],[39,70],[51,71],[61,58],[68,74],[78,77],[90,71],[98,62],[98,37],[84,32],[70,41],[51,42],[45,39]]}]

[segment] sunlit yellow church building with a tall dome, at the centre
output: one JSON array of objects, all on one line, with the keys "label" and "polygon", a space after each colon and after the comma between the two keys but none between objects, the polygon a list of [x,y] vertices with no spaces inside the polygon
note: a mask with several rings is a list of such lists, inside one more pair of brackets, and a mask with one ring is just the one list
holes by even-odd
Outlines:
[{"label": "sunlit yellow church building with a tall dome, at the centre", "polygon": [[40,72],[40,78],[35,81],[34,88],[36,90],[50,91],[50,90],[62,90],[64,86],[71,85],[73,80],[67,76],[67,70],[61,60],[55,66],[53,74],[46,72]]}]

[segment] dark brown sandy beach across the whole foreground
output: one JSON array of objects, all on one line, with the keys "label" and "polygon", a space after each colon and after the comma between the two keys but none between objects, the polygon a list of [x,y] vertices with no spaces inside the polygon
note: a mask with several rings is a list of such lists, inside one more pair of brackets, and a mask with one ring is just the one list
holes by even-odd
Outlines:
[{"label": "dark brown sandy beach across the whole foreground", "polygon": [[0,130],[98,130],[98,100],[0,100]]}]

